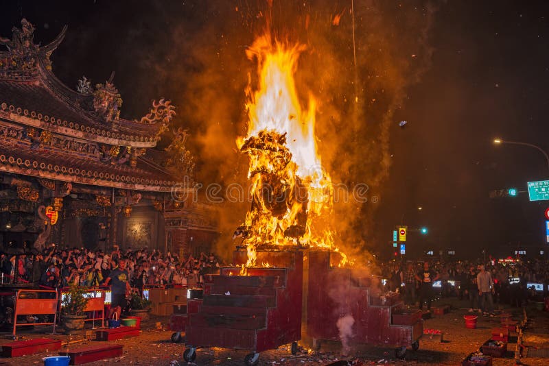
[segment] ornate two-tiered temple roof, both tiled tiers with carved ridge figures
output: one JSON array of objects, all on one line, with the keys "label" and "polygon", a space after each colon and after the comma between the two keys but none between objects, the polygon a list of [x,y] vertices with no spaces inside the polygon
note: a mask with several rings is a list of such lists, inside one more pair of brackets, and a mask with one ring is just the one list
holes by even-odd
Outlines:
[{"label": "ornate two-tiered temple roof, both tiled tiers with carved ridge figures", "polygon": [[0,51],[0,172],[169,192],[176,178],[145,154],[167,129],[174,107],[161,99],[130,121],[119,117],[122,99],[112,76],[95,87],[84,77],[78,90],[62,84],[49,56],[66,29],[43,47],[34,44],[34,27],[25,19],[11,40],[0,37],[7,49]]}]

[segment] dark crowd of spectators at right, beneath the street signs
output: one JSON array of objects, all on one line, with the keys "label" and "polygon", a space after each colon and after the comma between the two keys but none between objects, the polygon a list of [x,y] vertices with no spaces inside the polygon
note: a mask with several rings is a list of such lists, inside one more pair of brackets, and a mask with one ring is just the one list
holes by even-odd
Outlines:
[{"label": "dark crowd of spectators at right, beneath the street signs", "polygon": [[[469,312],[493,315],[494,304],[523,306],[528,301],[541,301],[548,293],[549,261],[487,260],[487,263],[452,261],[384,263],[382,278],[386,289],[403,293],[410,305],[427,305],[434,297],[433,284],[438,282],[441,297],[456,296],[468,300]],[[542,284],[543,291],[528,286]]]}]

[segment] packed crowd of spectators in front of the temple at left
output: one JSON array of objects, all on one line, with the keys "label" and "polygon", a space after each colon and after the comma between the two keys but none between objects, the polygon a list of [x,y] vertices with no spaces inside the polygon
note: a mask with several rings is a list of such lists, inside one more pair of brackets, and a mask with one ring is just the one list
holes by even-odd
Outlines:
[{"label": "packed crowd of spectators in front of the temple at left", "polygon": [[112,251],[104,252],[78,247],[61,249],[51,245],[42,253],[32,255],[2,254],[0,271],[6,278],[16,276],[19,282],[32,282],[52,289],[71,284],[98,286],[106,282],[121,259],[126,260],[130,286],[140,291],[145,284],[201,286],[202,276],[220,266],[213,253],[180,259],[176,254],[163,254],[156,249],[123,252],[115,245]]}]

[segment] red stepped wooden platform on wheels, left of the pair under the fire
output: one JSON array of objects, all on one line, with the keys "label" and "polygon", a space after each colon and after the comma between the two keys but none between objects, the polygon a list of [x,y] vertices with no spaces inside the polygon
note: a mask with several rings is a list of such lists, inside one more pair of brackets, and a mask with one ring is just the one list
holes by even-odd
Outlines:
[{"label": "red stepped wooden platform on wheels, left of the pair under the fire", "polygon": [[[234,253],[235,265],[246,260],[246,251]],[[205,278],[199,306],[187,304],[187,345],[261,352],[301,338],[303,252],[258,250],[257,262],[273,267],[248,268],[248,276],[223,267]]]}]

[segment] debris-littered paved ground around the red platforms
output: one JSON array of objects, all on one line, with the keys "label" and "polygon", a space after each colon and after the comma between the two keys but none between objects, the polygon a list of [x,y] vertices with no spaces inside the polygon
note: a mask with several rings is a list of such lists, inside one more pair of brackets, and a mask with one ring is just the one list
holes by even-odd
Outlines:
[{"label": "debris-littered paved ground around the red platforms", "polygon": [[[307,352],[310,347],[306,341],[301,343],[304,352],[292,356],[290,347],[285,346],[279,350],[262,352],[260,365],[329,365],[335,361],[344,359],[349,361],[360,361],[363,365],[458,365],[467,354],[478,350],[478,347],[491,336],[491,328],[499,324],[498,318],[479,317],[476,330],[468,330],[464,326],[463,315],[466,310],[459,310],[465,303],[456,300],[439,300],[439,303],[449,303],[454,306],[449,314],[442,317],[435,317],[425,321],[424,328],[439,329],[445,332],[445,342],[431,341],[425,337],[421,340],[420,349],[417,352],[408,350],[406,358],[399,360],[395,358],[393,348],[371,347],[366,345],[355,345],[351,352],[352,356],[342,357],[340,355],[340,344],[324,342],[319,352]],[[520,309],[511,309],[519,316]],[[549,313],[539,312],[533,307],[527,308],[529,327],[525,332],[525,341],[528,345],[538,347],[549,347]],[[171,361],[183,362],[183,343],[172,343],[170,330],[157,330],[156,322],[160,321],[163,326],[167,324],[167,317],[152,317],[148,322],[142,324],[143,332],[139,337],[115,341],[124,345],[124,355],[105,361],[89,363],[87,365],[170,365]],[[51,329],[51,328],[50,328]],[[27,337],[37,337],[44,334],[46,328],[34,331],[26,331]],[[62,341],[78,341],[82,335],[69,337],[66,335],[55,336]],[[0,345],[7,343],[8,339],[0,339]],[[69,349],[80,347],[80,345],[97,344],[93,341],[73,343]],[[65,350],[66,347],[63,348]],[[514,365],[515,344],[509,343],[509,351],[506,358],[494,358],[494,366]],[[196,365],[243,365],[244,356],[248,352],[235,352],[218,348],[198,350]],[[49,352],[35,356],[23,356],[18,358],[0,358],[0,364],[6,365],[41,365],[42,358],[55,355],[56,352]],[[175,365],[178,365],[175,363]],[[526,365],[549,365],[549,358],[523,358],[522,363]]]}]

